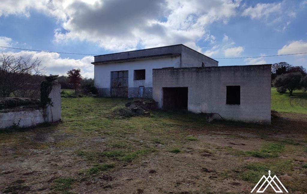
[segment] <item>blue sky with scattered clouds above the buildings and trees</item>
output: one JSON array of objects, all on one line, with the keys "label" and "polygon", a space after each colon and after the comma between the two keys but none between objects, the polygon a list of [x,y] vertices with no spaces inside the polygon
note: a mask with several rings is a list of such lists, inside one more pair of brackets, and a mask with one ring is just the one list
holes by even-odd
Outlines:
[{"label": "blue sky with scattered clouds above the buildings and trees", "polygon": [[[93,55],[185,44],[219,66],[288,62],[307,68],[307,0],[2,0],[0,52],[41,60],[48,74]],[[89,55],[93,54],[93,55]],[[219,59],[261,56],[247,59]]]}]

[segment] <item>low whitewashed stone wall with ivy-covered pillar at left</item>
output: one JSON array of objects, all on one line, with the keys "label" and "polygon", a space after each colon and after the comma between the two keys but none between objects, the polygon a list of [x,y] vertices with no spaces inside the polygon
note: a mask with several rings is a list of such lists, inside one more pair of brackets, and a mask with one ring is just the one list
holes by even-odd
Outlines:
[{"label": "low whitewashed stone wall with ivy-covered pillar at left", "polygon": [[49,105],[44,110],[42,108],[28,108],[0,111],[0,128],[7,128],[12,126],[31,127],[39,123],[55,122],[61,120],[60,89],[60,84],[52,86],[52,90],[49,94],[49,98],[51,98],[52,101],[52,106]]}]

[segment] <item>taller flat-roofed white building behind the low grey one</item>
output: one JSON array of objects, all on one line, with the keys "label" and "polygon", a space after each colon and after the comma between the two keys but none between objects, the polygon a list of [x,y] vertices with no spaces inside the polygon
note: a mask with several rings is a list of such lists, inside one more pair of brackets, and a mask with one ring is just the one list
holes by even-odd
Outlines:
[{"label": "taller flat-roofed white building behind the low grey one", "polygon": [[95,56],[94,80],[101,96],[152,98],[153,69],[211,67],[218,61],[183,44]]}]

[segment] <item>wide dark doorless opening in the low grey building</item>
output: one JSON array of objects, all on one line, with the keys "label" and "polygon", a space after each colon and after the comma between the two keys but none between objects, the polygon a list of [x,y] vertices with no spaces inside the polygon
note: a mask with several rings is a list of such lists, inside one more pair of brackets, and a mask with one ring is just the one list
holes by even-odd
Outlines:
[{"label": "wide dark doorless opening in the low grey building", "polygon": [[188,110],[188,87],[163,88],[164,110]]}]

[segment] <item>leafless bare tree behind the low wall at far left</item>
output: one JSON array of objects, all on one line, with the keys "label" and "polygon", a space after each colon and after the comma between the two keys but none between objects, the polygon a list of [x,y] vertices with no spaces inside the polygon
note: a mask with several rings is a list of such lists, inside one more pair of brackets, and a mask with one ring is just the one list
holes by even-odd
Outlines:
[{"label": "leafless bare tree behind the low wall at far left", "polygon": [[[9,97],[10,93],[22,93],[39,84],[41,75],[45,73],[38,59],[25,59],[2,53],[0,55],[0,97]],[[39,88],[37,88],[39,89]],[[34,90],[35,91],[35,90]]]}]

